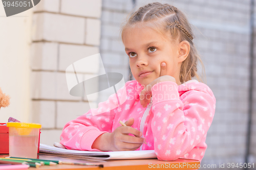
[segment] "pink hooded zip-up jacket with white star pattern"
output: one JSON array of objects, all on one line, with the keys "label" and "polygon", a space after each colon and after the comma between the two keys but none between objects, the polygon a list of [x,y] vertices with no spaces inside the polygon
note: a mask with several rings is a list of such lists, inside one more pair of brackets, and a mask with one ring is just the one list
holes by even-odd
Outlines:
[{"label": "pink hooded zip-up jacket with white star pattern", "polygon": [[[125,122],[133,117],[132,127],[140,130],[146,139],[146,143],[137,150],[155,150],[159,160],[202,160],[216,104],[215,96],[207,85],[197,80],[179,86],[169,81],[157,83],[152,87],[152,103],[146,108],[140,105],[139,100],[143,86],[133,80],[126,82],[125,87],[117,92],[121,95],[126,89],[127,100],[122,105],[95,116],[89,110],[71,120],[62,130],[60,143],[68,149],[99,151],[91,148],[94,140],[102,133],[113,132],[121,126],[120,120]],[[114,95],[99,103],[97,109],[107,110],[116,103]]]}]

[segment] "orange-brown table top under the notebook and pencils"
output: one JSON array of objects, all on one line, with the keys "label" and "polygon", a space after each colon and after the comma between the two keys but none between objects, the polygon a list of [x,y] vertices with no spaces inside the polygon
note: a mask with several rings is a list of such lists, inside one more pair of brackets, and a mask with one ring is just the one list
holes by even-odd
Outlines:
[{"label": "orange-brown table top under the notebook and pencils", "polygon": [[[0,157],[7,157],[8,154],[2,154]],[[59,156],[46,156],[38,154],[38,159],[47,159],[51,160],[58,159],[63,160]],[[67,159],[67,158],[66,158]],[[71,161],[69,159],[69,161]],[[88,162],[88,161],[87,161]],[[199,169],[200,161],[193,159],[177,159],[175,161],[160,161],[158,159],[132,159],[132,160],[107,160],[104,162],[90,162],[93,164],[103,164],[104,167],[97,166],[82,166],[82,165],[67,165],[67,164],[58,164],[53,166],[41,166],[39,168],[29,167],[29,169],[57,169],[57,170],[81,170],[81,169],[102,169],[102,170],[143,170],[143,169],[156,169],[157,167],[162,167],[164,169]],[[157,168],[157,169],[159,169]]]}]

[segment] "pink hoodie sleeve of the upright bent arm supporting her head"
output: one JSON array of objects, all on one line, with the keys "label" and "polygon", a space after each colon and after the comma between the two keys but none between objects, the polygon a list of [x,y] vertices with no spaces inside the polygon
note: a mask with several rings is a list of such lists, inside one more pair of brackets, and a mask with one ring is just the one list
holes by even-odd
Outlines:
[{"label": "pink hoodie sleeve of the upright bent arm supporting her head", "polygon": [[152,132],[159,160],[176,160],[191,151],[214,117],[216,99],[209,87],[199,82],[187,86],[189,90],[181,96],[174,82],[152,87]]}]

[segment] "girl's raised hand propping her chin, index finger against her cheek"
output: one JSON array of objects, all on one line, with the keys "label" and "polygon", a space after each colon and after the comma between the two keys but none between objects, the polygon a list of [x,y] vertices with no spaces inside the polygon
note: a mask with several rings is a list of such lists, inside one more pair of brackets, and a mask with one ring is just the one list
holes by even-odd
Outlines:
[{"label": "girl's raised hand propping her chin, index finger against her cheek", "polygon": [[152,96],[151,88],[157,83],[166,82],[166,81],[171,81],[176,83],[176,80],[174,77],[167,75],[166,63],[162,62],[160,77],[153,80],[150,84],[146,85],[146,87],[140,92],[140,104],[142,105],[142,107],[146,107],[147,104],[150,103],[150,98]]}]

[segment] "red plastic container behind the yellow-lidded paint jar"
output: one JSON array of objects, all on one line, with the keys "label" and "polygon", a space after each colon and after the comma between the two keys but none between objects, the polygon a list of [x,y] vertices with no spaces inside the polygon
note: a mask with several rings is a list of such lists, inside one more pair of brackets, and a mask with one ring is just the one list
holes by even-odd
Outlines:
[{"label": "red plastic container behind the yellow-lidded paint jar", "polygon": [[[4,124],[6,123],[0,123],[0,125]],[[39,130],[37,153],[39,153],[40,133]],[[0,126],[0,143],[0,154],[9,154],[9,128],[7,126]]]}]

